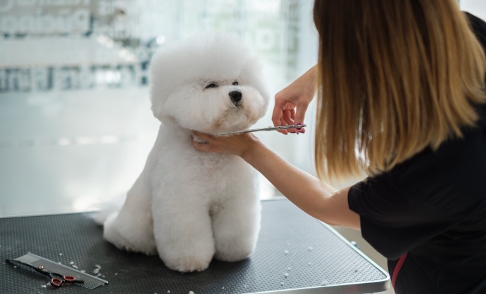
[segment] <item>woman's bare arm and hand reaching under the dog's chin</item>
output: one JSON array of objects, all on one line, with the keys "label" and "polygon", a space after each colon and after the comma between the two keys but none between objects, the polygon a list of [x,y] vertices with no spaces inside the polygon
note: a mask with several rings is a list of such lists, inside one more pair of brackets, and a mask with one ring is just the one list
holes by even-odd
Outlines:
[{"label": "woman's bare arm and hand reaching under the dog's chin", "polygon": [[327,224],[359,229],[359,215],[348,206],[349,187],[341,190],[299,170],[266,148],[255,135],[244,133],[214,137],[194,132],[207,144],[193,142],[196,149],[238,155],[261,172],[288,200]]}]

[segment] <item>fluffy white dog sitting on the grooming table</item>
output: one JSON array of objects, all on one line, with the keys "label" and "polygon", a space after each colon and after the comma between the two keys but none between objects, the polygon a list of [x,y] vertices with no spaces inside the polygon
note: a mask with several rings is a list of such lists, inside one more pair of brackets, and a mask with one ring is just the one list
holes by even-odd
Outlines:
[{"label": "fluffy white dog sitting on the grooming table", "polygon": [[182,272],[203,271],[213,257],[248,257],[260,226],[257,174],[240,157],[199,152],[191,141],[199,139],[192,131],[240,131],[264,116],[261,64],[238,38],[203,34],[158,51],[150,82],[162,124],[123,207],[104,221],[105,239],[158,253]]}]

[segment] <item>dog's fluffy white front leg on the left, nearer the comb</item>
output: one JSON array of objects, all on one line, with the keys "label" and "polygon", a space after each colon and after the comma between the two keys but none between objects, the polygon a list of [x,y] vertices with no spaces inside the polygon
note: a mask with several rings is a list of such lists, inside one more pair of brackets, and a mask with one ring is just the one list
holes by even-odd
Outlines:
[{"label": "dog's fluffy white front leg on the left, nearer the comb", "polygon": [[197,198],[153,199],[153,229],[157,251],[175,271],[203,271],[214,255],[211,219]]}]

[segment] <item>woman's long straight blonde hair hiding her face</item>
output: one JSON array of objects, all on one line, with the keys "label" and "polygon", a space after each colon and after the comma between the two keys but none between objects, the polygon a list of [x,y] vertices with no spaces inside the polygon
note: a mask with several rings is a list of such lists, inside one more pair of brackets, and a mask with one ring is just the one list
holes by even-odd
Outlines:
[{"label": "woman's long straight blonde hair hiding her face", "polygon": [[316,170],[392,169],[461,137],[485,103],[485,53],[455,0],[316,0]]}]

